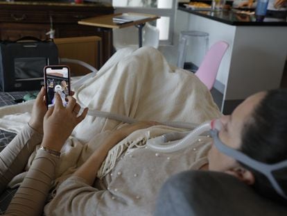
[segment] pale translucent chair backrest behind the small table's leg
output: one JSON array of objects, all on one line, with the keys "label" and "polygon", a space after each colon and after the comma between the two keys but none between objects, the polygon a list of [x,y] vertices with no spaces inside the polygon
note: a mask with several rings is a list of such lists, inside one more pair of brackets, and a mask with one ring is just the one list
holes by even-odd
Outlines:
[{"label": "pale translucent chair backrest behind the small table's leg", "polygon": [[[159,29],[148,23],[143,27],[143,47],[159,47]],[[135,26],[113,29],[113,44],[116,50],[139,47],[139,30]]]}]

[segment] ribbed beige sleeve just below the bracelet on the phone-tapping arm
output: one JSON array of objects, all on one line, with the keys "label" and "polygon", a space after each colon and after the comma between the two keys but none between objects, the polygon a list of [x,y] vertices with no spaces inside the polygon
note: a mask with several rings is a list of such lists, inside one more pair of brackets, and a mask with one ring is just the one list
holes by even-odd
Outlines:
[{"label": "ribbed beige sleeve just below the bracelet on the phone-tapping arm", "polygon": [[42,215],[58,163],[59,157],[39,149],[6,215]]}]

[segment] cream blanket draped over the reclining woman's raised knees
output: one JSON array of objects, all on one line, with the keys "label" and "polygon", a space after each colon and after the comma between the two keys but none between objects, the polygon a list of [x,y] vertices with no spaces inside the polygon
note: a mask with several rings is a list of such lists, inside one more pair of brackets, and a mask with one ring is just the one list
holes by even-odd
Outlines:
[{"label": "cream blanket draped over the reclining woman's raised knees", "polygon": [[[74,97],[90,110],[138,120],[201,123],[220,115],[209,90],[194,74],[170,67],[159,51],[147,47],[118,51],[94,78],[75,91]],[[33,101],[1,108],[0,128],[21,130],[32,105]],[[71,174],[101,144],[99,141],[120,125],[114,120],[87,116],[64,145],[57,176]]]}]

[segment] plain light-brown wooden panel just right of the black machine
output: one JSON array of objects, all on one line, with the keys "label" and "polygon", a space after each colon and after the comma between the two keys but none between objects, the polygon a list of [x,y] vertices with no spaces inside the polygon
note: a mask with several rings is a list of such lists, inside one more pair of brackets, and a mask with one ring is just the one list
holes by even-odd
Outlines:
[{"label": "plain light-brown wooden panel just right of the black machine", "polygon": [[[81,60],[96,69],[101,65],[101,38],[97,36],[76,38],[55,38],[58,47],[59,58]],[[75,63],[63,63],[68,65],[71,76],[82,76],[90,73],[89,69]]]}]

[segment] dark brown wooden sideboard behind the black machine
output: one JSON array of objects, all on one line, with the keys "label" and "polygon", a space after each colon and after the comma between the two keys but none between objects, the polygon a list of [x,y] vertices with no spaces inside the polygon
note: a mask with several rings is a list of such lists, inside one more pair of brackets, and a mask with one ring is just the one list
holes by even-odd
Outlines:
[{"label": "dark brown wooden sideboard behind the black machine", "polygon": [[17,40],[24,36],[55,38],[97,35],[103,38],[103,63],[110,58],[112,33],[101,28],[78,25],[80,19],[114,13],[108,3],[70,3],[67,1],[0,1],[0,40]]}]

